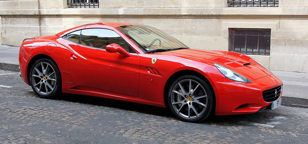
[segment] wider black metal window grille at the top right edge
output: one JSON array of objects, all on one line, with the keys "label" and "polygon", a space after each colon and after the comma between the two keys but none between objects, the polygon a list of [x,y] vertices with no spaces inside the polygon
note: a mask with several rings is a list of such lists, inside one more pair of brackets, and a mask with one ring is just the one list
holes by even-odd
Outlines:
[{"label": "wider black metal window grille at the top right edge", "polygon": [[279,0],[228,0],[229,7],[278,7]]}]

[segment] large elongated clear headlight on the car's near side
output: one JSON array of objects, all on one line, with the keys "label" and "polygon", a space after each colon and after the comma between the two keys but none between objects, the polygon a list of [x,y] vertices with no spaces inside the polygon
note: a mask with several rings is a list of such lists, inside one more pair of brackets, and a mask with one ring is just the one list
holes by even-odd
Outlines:
[{"label": "large elongated clear headlight on the car's near side", "polygon": [[217,69],[221,72],[221,74],[223,74],[226,78],[229,78],[233,81],[240,81],[240,82],[246,82],[246,83],[250,83],[251,81],[248,78],[245,78],[244,76],[242,76],[241,74],[230,70],[229,68],[222,66],[220,64],[217,63],[213,63],[214,66],[217,67]]}]

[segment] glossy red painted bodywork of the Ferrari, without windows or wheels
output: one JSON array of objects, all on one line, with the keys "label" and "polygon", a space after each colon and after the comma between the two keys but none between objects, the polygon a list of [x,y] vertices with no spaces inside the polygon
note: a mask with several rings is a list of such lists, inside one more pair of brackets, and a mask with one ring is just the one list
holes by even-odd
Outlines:
[{"label": "glossy red painted bodywork of the Ferrari, without windows or wheels", "polygon": [[[131,23],[95,23],[82,25],[54,36],[38,36],[22,43],[19,63],[22,79],[29,85],[31,63],[40,57],[55,61],[62,77],[62,92],[125,100],[166,107],[164,93],[168,79],[183,70],[195,71],[207,79],[216,98],[216,115],[247,114],[270,103],[262,91],[282,85],[282,81],[246,55],[229,51],[182,49],[144,53],[116,27]],[[135,51],[129,57],[120,51],[108,52],[61,38],[80,29],[106,28],[118,33]],[[55,44],[55,45],[54,45]],[[112,45],[111,45],[112,46]],[[114,46],[114,45],[113,45]],[[152,58],[157,58],[152,64]],[[251,83],[232,81],[213,65],[219,63]],[[250,63],[244,66],[243,64]],[[273,80],[273,79],[274,80]],[[244,108],[236,109],[242,104]]]}]

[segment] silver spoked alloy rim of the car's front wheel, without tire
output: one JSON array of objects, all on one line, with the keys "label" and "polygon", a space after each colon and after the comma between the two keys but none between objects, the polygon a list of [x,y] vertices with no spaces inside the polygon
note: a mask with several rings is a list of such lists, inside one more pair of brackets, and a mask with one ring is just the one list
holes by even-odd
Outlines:
[{"label": "silver spoked alloy rim of the car's front wheel, without tire", "polygon": [[195,119],[205,112],[207,95],[200,83],[186,79],[178,82],[172,89],[171,103],[180,116]]}]

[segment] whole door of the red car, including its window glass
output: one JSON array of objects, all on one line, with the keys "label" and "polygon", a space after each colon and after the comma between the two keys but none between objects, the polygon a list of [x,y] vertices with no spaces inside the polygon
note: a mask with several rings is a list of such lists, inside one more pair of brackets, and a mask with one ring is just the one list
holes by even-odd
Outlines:
[{"label": "whole door of the red car, including its window glass", "polygon": [[[105,50],[108,44],[119,44],[130,57]],[[115,31],[89,28],[68,58],[72,77],[81,85],[137,97],[140,59],[138,54]]]}]

